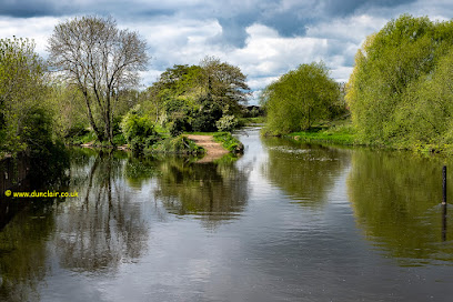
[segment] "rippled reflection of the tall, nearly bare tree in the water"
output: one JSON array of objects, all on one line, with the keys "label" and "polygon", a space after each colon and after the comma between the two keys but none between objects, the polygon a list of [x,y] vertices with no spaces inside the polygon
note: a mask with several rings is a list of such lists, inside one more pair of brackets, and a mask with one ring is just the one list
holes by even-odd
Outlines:
[{"label": "rippled reflection of the tall, nearly bare tree in the water", "polygon": [[[124,160],[99,153],[84,169],[74,169],[70,200],[57,217],[61,265],[82,271],[114,269],[120,261],[140,256],[148,236],[140,204],[122,184]],[[88,169],[88,175],[87,175]]]}]

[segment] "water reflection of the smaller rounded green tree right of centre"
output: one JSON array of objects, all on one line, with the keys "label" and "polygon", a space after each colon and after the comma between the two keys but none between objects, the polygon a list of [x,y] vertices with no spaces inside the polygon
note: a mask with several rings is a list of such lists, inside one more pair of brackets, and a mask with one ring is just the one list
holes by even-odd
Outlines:
[{"label": "water reflection of the smaller rounded green tree right of centre", "polygon": [[290,198],[315,207],[326,198],[335,178],[349,165],[350,151],[308,145],[282,139],[265,139],[269,160],[263,174]]}]

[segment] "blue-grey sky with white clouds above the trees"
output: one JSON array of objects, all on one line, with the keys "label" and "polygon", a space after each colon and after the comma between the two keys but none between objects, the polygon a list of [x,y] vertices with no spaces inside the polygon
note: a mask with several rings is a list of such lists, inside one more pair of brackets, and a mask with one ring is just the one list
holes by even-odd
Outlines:
[{"label": "blue-grey sky with white clouds above the trees", "polygon": [[60,22],[111,16],[139,32],[151,57],[142,88],[174,64],[217,57],[238,66],[259,92],[303,63],[323,61],[346,82],[364,39],[402,13],[445,21],[451,0],[0,0],[0,38],[30,38],[48,57],[47,40]]}]

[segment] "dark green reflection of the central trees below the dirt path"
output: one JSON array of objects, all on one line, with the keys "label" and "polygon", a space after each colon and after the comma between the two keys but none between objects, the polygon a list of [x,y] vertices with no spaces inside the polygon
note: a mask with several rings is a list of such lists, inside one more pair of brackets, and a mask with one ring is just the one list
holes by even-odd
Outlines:
[{"label": "dark green reflection of the central trees below the dirt path", "polygon": [[155,197],[175,214],[199,214],[213,228],[242,211],[248,179],[232,162],[191,163],[182,158],[162,161]]}]

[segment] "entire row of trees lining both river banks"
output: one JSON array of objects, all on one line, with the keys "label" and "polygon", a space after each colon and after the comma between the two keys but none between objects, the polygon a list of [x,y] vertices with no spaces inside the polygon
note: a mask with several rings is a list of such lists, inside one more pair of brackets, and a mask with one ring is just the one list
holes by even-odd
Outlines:
[{"label": "entire row of trees lining both river banks", "polygon": [[[403,14],[366,38],[345,87],[322,62],[268,85],[261,94],[266,131],[310,131],[350,113],[362,143],[453,145],[452,44],[453,22]],[[145,43],[111,18],[58,24],[48,50],[46,62],[32,41],[0,40],[2,153],[46,151],[56,141],[143,150],[184,131],[231,131],[238,117],[261,113],[244,107],[250,88],[242,71],[211,57],[168,68],[138,90]]]}]

